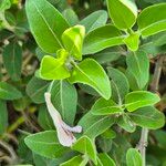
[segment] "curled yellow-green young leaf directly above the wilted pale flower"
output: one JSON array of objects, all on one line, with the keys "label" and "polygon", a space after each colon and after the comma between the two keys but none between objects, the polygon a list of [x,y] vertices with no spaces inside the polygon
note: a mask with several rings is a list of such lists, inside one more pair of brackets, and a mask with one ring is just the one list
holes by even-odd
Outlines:
[{"label": "curled yellow-green young leaf directly above the wilted pale flower", "polygon": [[59,50],[61,56],[55,59],[51,55],[45,55],[41,61],[40,76],[44,80],[63,80],[70,76],[70,72],[64,62],[68,52]]}]

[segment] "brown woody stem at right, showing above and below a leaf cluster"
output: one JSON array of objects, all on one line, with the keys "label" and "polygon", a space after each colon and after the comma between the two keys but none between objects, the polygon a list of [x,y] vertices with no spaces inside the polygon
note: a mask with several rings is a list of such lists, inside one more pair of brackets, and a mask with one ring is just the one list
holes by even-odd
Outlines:
[{"label": "brown woody stem at right, showing above and below a leaf cluster", "polygon": [[[160,73],[162,73],[162,66],[163,66],[164,59],[165,59],[165,56],[160,55],[158,58],[157,62],[156,62],[153,81],[151,83],[151,91],[154,92],[154,93],[156,93],[158,91],[158,83],[159,83],[159,79],[160,79]],[[142,154],[142,157],[143,157],[143,166],[146,165],[147,139],[148,139],[148,129],[143,128],[141,139],[139,139],[139,143],[138,143],[138,147],[137,147],[139,149],[141,154]]]}]

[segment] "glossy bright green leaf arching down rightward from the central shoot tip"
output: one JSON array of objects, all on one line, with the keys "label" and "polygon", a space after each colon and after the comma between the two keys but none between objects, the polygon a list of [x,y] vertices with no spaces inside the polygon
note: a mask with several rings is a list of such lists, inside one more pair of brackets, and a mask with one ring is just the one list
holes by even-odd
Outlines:
[{"label": "glossy bright green leaf arching down rightward from the central shoot tip", "polygon": [[93,59],[85,59],[79,64],[74,64],[71,83],[84,83],[92,86],[105,100],[111,97],[110,80],[103,68]]}]

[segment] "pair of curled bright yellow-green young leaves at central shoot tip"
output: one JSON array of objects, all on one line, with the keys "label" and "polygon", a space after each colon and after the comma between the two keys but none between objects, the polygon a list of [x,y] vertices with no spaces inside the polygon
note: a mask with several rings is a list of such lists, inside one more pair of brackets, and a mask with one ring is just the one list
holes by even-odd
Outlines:
[{"label": "pair of curled bright yellow-green young leaves at central shoot tip", "polygon": [[72,59],[82,60],[84,35],[85,28],[83,25],[75,25],[65,30],[62,34],[62,42],[65,49],[62,45],[62,49],[56,51],[56,59],[51,55],[45,55],[42,59],[40,68],[41,77],[44,80],[63,80],[70,77],[68,65],[70,65]]}]

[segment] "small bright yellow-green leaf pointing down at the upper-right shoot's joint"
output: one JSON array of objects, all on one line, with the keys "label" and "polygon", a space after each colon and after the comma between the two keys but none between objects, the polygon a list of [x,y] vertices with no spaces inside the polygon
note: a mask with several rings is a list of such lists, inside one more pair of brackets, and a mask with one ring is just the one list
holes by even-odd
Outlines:
[{"label": "small bright yellow-green leaf pointing down at the upper-right shoot's joint", "polygon": [[139,44],[139,34],[138,33],[132,33],[128,37],[124,39],[124,43],[127,45],[127,48],[131,51],[137,51],[138,44]]}]

